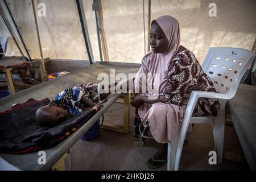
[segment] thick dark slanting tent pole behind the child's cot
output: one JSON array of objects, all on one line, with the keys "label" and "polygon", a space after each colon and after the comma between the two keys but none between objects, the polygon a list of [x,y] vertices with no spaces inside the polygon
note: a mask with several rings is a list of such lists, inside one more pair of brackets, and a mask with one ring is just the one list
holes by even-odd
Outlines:
[{"label": "thick dark slanting tent pole behind the child's cot", "polygon": [[86,24],[86,19],[85,19],[85,14],[84,14],[84,7],[82,6],[82,1],[76,0],[76,5],[77,5],[78,13],[79,13],[81,27],[82,27],[82,34],[84,35],[86,51],[88,53],[90,64],[93,64],[93,61],[94,61],[93,52],[92,52],[92,47],[90,45],[89,32],[87,29],[87,24]]}]

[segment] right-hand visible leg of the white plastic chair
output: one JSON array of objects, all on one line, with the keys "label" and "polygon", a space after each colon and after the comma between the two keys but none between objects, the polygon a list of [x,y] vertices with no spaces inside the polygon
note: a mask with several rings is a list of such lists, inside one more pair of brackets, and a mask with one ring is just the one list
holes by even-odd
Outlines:
[{"label": "right-hand visible leg of the white plastic chair", "polygon": [[222,163],[225,133],[225,108],[218,111],[218,116],[213,122],[213,137],[217,152],[217,163]]}]

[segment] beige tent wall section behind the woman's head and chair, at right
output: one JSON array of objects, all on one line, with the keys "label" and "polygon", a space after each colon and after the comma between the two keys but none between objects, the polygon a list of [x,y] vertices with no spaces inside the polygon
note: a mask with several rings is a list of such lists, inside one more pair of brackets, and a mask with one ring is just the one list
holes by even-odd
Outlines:
[{"label": "beige tent wall section behind the woman's head and chair, at right", "polygon": [[[217,16],[208,7],[216,3]],[[256,1],[152,1],[152,18],[171,14],[180,23],[181,44],[203,61],[209,47],[237,47],[251,51],[256,38]]]}]

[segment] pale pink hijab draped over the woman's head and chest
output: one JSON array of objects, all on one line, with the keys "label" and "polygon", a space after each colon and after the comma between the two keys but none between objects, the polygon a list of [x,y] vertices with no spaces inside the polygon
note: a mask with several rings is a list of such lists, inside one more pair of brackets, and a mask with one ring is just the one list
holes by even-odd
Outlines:
[{"label": "pale pink hijab draped over the woman's head and chest", "polygon": [[[135,87],[137,86],[136,81],[142,73],[158,73],[156,74],[158,76],[153,76],[151,84],[154,90],[157,89],[156,92],[162,93],[168,81],[168,66],[180,47],[180,28],[179,22],[170,15],[160,16],[154,20],[162,28],[169,45],[164,53],[154,53],[151,50],[143,57],[142,67],[135,77]],[[155,94],[157,94],[156,92]]]}]

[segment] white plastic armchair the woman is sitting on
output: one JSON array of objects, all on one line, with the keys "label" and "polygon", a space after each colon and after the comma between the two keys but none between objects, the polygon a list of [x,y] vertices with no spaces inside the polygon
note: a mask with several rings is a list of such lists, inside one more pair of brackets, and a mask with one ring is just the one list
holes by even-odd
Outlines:
[{"label": "white plastic armchair the woman is sitting on", "polygon": [[[217,93],[192,91],[187,109],[185,110],[183,125],[179,133],[168,142],[167,170],[178,170],[185,135],[189,124],[208,123],[212,125],[217,163],[222,162],[225,105],[226,101],[235,96],[238,85],[246,69],[254,60],[254,53],[240,48],[210,48],[202,68],[211,78]],[[218,98],[220,110],[217,117],[191,117],[198,98]]]}]

